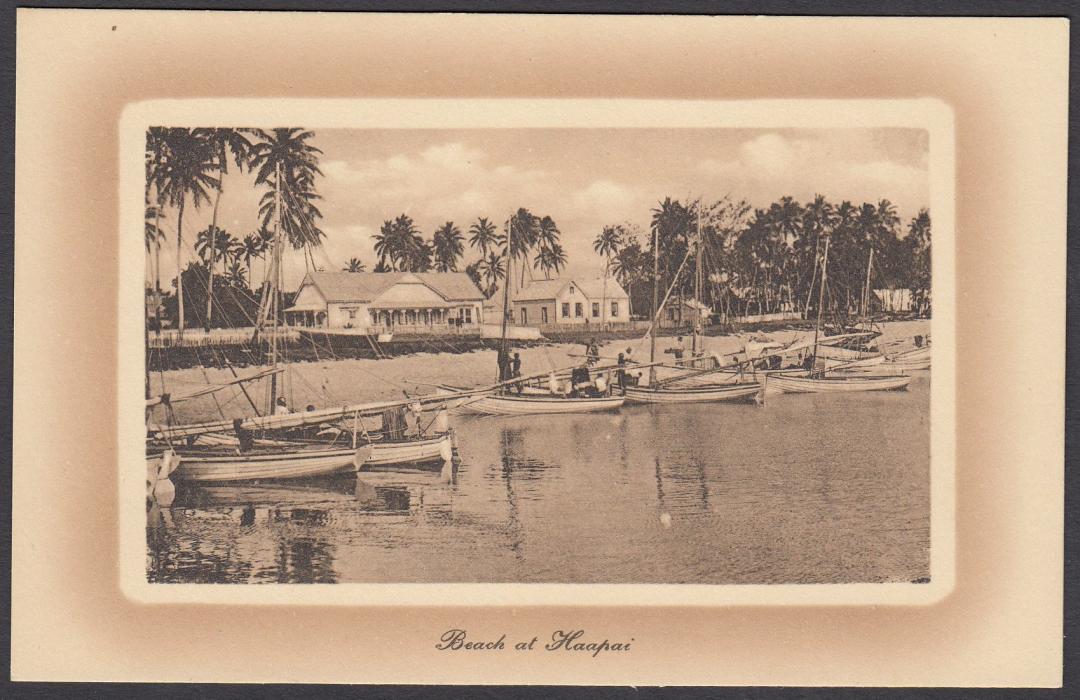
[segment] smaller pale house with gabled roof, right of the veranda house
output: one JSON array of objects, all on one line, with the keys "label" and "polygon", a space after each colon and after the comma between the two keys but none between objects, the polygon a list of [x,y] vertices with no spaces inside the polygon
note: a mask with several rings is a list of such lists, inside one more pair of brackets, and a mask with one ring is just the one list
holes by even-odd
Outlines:
[{"label": "smaller pale house with gabled roof, right of the veranda house", "polygon": [[544,326],[622,324],[630,297],[613,278],[535,280],[513,293],[513,322]]}]

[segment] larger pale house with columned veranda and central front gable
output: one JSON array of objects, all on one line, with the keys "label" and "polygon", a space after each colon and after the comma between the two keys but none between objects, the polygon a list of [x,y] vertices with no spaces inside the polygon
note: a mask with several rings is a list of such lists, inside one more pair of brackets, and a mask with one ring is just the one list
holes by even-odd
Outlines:
[{"label": "larger pale house with columned veranda and central front gable", "polygon": [[464,272],[309,272],[289,325],[370,333],[480,328],[484,295]]}]

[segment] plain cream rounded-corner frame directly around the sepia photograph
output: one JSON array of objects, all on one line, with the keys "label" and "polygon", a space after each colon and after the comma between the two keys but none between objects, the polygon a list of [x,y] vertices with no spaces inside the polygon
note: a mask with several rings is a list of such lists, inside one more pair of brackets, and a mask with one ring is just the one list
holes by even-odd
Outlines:
[{"label": "plain cream rounded-corner frame directly around the sepia photograph", "polygon": [[[150,125],[319,129],[910,127],[930,134],[934,317],[931,382],[930,583],[149,583],[143,416],[143,154]],[[955,133],[937,99],[164,99],[129,105],[119,124],[118,452],[120,584],[140,603],[372,606],[931,605],[955,587]]]}]

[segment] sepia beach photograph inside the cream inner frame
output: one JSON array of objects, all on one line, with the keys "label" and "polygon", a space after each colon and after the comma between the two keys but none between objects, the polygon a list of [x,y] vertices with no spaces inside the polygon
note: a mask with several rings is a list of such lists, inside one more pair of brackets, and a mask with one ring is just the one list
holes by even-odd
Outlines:
[{"label": "sepia beach photograph inside the cream inner frame", "polygon": [[147,581],[931,581],[928,130],[145,146]]}]

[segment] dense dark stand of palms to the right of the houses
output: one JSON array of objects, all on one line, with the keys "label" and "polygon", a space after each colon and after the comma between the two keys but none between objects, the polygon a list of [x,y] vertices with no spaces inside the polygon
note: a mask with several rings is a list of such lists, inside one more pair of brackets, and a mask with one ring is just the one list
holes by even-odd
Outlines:
[{"label": "dense dark stand of palms to the right of the houses", "polygon": [[[834,205],[821,196],[806,204],[784,197],[752,208],[727,198],[688,203],[665,198],[651,214],[647,237],[617,224],[604,227],[593,244],[638,309],[651,307],[656,242],[661,294],[673,287],[676,297],[685,298],[698,287],[702,301],[727,313],[816,313],[812,293],[821,282],[828,239],[826,309],[859,311],[869,268],[870,288],[910,290],[915,305],[929,310],[927,210],[903,226],[888,200],[855,206],[848,201]],[[702,272],[697,279],[699,228]]]}]

